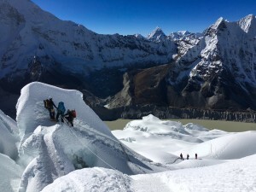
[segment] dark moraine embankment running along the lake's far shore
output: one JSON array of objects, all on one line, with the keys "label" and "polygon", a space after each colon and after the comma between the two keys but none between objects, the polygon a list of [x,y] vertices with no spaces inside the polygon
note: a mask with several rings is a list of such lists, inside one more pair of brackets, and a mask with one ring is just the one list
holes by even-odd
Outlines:
[{"label": "dark moraine embankment running along the lake's far shore", "polygon": [[198,108],[168,108],[155,105],[137,105],[113,109],[96,106],[91,108],[103,120],[142,119],[143,116],[153,114],[160,119],[210,119],[256,123],[256,112],[253,110],[236,112]]}]

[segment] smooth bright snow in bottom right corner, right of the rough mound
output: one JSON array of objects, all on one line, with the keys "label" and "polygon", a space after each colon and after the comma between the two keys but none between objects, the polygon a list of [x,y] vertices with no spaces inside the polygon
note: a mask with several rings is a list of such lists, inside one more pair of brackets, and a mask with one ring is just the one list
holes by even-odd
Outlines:
[{"label": "smooth bright snow in bottom right corner, right of the rough mound", "polygon": [[[234,160],[215,166],[189,168],[172,172],[163,172],[150,175],[132,176],[133,184],[139,184],[137,191],[154,191],[148,188],[147,183],[159,191],[255,191],[255,158],[256,155],[248,156],[241,160]],[[192,160],[195,161],[195,160]],[[197,160],[200,161],[200,160]],[[131,184],[132,185],[132,184]],[[168,189],[162,190],[161,186]]]}]

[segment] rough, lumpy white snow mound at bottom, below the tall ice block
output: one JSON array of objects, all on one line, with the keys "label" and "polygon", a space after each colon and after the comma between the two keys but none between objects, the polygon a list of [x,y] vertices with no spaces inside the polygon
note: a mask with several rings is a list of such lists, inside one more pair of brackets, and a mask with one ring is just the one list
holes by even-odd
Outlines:
[{"label": "rough, lumpy white snow mound at bottom, below the tall ice block", "polygon": [[[73,178],[71,180],[70,178]],[[125,192],[131,190],[131,177],[121,172],[100,167],[83,169],[71,172],[67,176],[56,179],[54,183],[45,187],[42,192],[48,191],[113,191]],[[55,186],[58,186],[57,188]]]}]

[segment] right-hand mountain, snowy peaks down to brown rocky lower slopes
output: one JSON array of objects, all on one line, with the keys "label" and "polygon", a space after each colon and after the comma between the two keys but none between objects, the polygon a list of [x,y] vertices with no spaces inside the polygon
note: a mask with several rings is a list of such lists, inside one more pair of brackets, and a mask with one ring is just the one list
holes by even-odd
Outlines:
[{"label": "right-hand mountain, snowy peaks down to brown rocky lower slopes", "polygon": [[123,90],[108,106],[255,110],[255,37],[254,15],[236,22],[220,18],[202,37],[176,40],[175,62],[126,73]]}]

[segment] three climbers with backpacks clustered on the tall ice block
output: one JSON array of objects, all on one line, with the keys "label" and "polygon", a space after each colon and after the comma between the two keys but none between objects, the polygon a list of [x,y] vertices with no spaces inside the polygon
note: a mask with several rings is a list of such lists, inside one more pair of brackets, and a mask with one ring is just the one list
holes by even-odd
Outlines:
[{"label": "three climbers with backpacks clustered on the tall ice block", "polygon": [[[54,121],[59,121],[59,117],[61,116],[61,122],[64,122],[64,118],[67,119],[68,123],[73,126],[73,119],[76,118],[76,111],[75,110],[69,110],[64,106],[64,102],[59,102],[58,107],[55,106],[55,103],[53,102],[52,98],[49,97],[49,99],[44,100],[44,108],[47,108],[49,110],[49,118]],[[55,117],[55,108],[57,109],[57,114]]]}]

